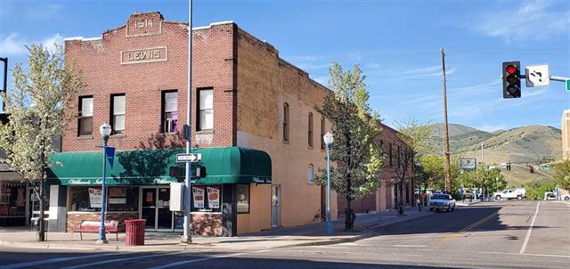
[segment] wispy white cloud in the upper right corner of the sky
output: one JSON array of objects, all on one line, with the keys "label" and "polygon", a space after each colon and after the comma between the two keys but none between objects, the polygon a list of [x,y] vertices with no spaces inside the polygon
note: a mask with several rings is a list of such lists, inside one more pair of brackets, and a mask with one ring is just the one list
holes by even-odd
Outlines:
[{"label": "wispy white cloud in the upper right corner of the sky", "polygon": [[[509,2],[514,4],[517,2]],[[485,11],[473,24],[475,29],[489,37],[504,37],[507,42],[515,40],[541,40],[570,31],[570,10],[568,5],[552,7],[553,1],[526,1],[520,6],[500,11]],[[566,6],[566,10],[565,7]],[[494,6],[494,10],[497,10]]]}]

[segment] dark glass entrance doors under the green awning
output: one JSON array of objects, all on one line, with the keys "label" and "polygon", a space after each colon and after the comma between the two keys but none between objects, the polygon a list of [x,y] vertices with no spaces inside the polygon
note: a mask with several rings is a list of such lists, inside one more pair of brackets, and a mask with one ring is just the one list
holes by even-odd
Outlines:
[{"label": "dark glass entrance doors under the green awning", "polygon": [[173,231],[173,212],[169,208],[170,188],[143,187],[141,218],[146,219],[146,229]]}]

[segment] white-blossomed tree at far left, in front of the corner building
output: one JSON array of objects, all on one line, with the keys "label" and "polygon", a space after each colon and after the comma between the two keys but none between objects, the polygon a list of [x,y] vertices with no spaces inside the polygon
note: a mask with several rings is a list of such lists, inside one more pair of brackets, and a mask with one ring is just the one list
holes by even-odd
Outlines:
[{"label": "white-blossomed tree at far left, in front of the corner building", "polygon": [[12,70],[13,89],[3,94],[9,122],[0,125],[2,159],[32,186],[39,198],[37,240],[45,240],[45,176],[53,142],[73,115],[67,115],[75,94],[83,88],[80,73],[65,69],[61,48],[51,53],[43,45],[28,47],[28,71],[21,62]]}]

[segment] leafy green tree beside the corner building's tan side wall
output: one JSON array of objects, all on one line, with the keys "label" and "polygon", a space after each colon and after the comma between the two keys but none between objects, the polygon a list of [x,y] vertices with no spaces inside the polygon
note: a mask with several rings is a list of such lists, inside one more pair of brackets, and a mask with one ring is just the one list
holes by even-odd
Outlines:
[{"label": "leafy green tree beside the corner building's tan side wall", "polygon": [[[354,228],[352,201],[379,188],[382,151],[377,139],[381,129],[379,114],[368,104],[364,76],[358,65],[343,71],[333,62],[329,68],[329,86],[334,94],[324,99],[322,108],[316,108],[329,119],[335,137],[330,152],[331,187],[346,199],[345,230]],[[316,176],[317,183],[327,182],[326,171]]]}]

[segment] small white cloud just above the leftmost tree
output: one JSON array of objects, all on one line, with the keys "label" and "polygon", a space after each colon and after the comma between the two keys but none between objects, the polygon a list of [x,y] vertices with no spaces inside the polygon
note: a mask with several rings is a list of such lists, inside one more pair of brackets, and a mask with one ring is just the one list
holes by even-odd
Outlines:
[{"label": "small white cloud just above the leftmost tree", "polygon": [[51,37],[45,37],[40,41],[29,41],[25,38],[21,38],[18,33],[12,33],[7,37],[0,37],[0,52],[8,56],[26,54],[28,53],[26,45],[31,44],[43,44],[51,53],[53,53],[55,51],[56,44],[63,45],[63,37],[58,33]]}]

